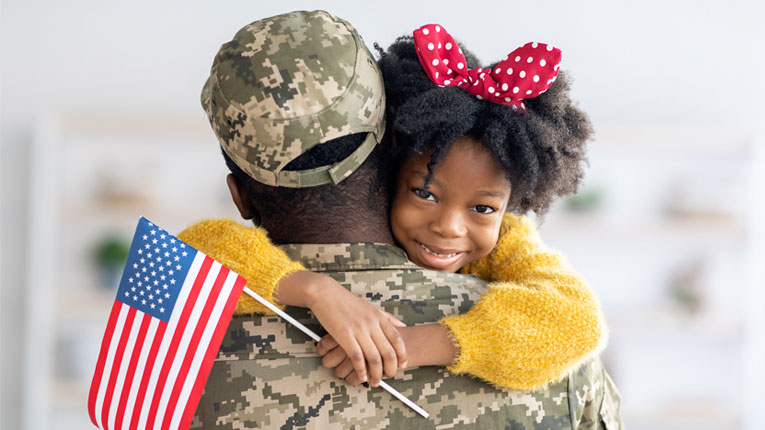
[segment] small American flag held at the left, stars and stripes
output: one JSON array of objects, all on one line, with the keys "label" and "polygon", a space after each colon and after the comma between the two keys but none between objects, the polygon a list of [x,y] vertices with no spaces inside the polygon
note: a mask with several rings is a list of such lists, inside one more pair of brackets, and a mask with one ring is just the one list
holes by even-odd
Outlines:
[{"label": "small American flag held at the left, stars and stripes", "polygon": [[93,424],[188,429],[244,285],[142,217],[90,386]]}]

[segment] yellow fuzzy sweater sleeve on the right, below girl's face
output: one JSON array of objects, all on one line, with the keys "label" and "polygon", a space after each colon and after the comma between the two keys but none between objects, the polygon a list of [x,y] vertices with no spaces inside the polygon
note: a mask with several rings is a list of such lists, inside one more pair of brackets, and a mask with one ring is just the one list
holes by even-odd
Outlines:
[{"label": "yellow fuzzy sweater sleeve on the right, below girl's face", "polygon": [[544,246],[528,218],[505,215],[497,246],[463,272],[490,284],[470,311],[441,320],[459,351],[451,371],[532,389],[561,379],[605,346],[593,291]]}]

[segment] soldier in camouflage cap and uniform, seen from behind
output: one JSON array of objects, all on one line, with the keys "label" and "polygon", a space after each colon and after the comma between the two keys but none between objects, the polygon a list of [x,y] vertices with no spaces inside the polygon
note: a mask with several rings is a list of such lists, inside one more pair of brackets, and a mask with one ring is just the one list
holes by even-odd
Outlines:
[{"label": "soldier in camouflage cap and uniform, seen from behind", "polygon": [[[474,277],[421,269],[388,224],[383,85],[353,27],[326,12],[254,22],[225,44],[202,103],[232,171],[232,197],[287,254],[408,325],[469,309]],[[182,233],[180,237],[187,240]],[[247,243],[210,230],[213,242]],[[193,246],[216,257],[216,249]],[[236,254],[236,253],[235,253]],[[288,308],[320,332],[309,311]],[[321,367],[314,343],[278,317],[232,320],[192,428],[618,428],[618,395],[598,360],[537,392],[503,391],[439,367],[399,372],[380,389],[351,387]]]}]

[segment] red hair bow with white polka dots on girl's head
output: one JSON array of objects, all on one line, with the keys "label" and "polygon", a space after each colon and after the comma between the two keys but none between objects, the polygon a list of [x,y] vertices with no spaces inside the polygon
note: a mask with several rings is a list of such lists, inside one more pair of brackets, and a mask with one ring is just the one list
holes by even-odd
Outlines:
[{"label": "red hair bow with white polka dots on girl's head", "polygon": [[493,70],[468,69],[462,49],[451,34],[437,24],[414,31],[414,46],[430,80],[441,86],[457,86],[485,99],[525,112],[524,99],[550,88],[558,76],[560,49],[530,42],[511,52]]}]

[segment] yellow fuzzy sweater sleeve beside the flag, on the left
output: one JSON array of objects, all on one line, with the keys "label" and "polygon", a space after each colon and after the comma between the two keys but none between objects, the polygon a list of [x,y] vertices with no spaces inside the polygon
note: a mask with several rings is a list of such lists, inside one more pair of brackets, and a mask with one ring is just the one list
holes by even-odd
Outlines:
[{"label": "yellow fuzzy sweater sleeve beside the flag, on the left", "polygon": [[[178,238],[244,277],[251,290],[279,307],[282,306],[274,301],[279,280],[304,270],[302,264],[290,260],[271,243],[265,229],[245,227],[232,220],[201,221],[183,230]],[[257,300],[242,294],[234,314],[254,313],[273,314]]]}]

